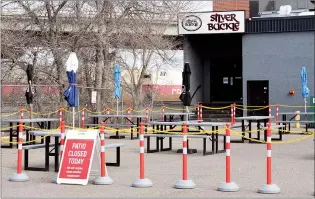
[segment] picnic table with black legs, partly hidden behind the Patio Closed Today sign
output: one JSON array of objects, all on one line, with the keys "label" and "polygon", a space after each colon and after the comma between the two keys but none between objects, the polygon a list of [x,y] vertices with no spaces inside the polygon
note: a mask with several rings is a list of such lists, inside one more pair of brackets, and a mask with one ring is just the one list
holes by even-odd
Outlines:
[{"label": "picnic table with black legs, partly hidden behind the Patio Closed Today sign", "polygon": [[[30,131],[30,134],[33,134],[34,136],[45,136],[45,143],[44,144],[35,144],[35,145],[26,145],[23,146],[22,149],[24,149],[24,169],[25,170],[31,170],[31,171],[49,171],[49,157],[54,157],[54,165],[55,165],[55,172],[58,172],[59,170],[59,137],[61,137],[60,133],[49,133],[48,131]],[[67,130],[65,132],[65,136],[67,135]],[[55,138],[55,143],[50,143],[50,138]],[[113,143],[113,144],[106,144],[105,149],[107,148],[116,148],[116,162],[106,162],[107,166],[120,166],[120,147],[125,146],[123,143]],[[50,150],[50,147],[53,147],[52,150]],[[38,168],[38,167],[29,167],[29,151],[33,149],[40,149],[45,148],[45,167],[44,168]],[[54,150],[54,153],[52,151]]]}]

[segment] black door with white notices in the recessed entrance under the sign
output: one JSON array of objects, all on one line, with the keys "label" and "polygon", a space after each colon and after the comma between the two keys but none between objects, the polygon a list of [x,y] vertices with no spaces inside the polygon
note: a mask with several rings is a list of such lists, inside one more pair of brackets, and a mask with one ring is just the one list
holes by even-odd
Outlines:
[{"label": "black door with white notices in the recessed entrance under the sign", "polygon": [[211,101],[242,103],[242,59],[238,57],[211,59]]}]

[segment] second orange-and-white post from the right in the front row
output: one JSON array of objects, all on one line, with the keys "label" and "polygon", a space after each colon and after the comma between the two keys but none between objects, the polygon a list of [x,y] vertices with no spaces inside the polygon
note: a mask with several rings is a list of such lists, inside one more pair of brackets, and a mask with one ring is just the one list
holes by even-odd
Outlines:
[{"label": "second orange-and-white post from the right in the front row", "polygon": [[218,191],[235,192],[238,191],[240,188],[235,182],[231,182],[231,132],[230,125],[228,124],[226,124],[225,136],[225,182],[219,185]]}]

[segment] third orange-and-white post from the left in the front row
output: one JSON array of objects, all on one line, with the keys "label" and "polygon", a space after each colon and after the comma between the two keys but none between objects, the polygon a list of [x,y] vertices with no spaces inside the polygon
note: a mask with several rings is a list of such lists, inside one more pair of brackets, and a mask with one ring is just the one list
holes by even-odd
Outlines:
[{"label": "third orange-and-white post from the left in the front row", "polygon": [[144,178],[144,129],[143,123],[140,123],[140,178],[138,178],[134,183],[132,183],[133,187],[138,188],[146,188],[152,187],[153,183],[150,179]]}]

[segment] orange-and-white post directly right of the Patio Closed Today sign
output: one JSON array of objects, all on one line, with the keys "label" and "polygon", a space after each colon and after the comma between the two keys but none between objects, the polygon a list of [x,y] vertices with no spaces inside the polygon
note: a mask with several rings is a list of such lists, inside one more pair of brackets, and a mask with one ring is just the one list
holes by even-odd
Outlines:
[{"label": "orange-and-white post directly right of the Patio Closed Today sign", "polygon": [[104,122],[101,122],[100,126],[100,138],[101,138],[101,150],[100,150],[100,156],[101,156],[101,176],[96,177],[93,181],[94,184],[97,185],[110,185],[113,184],[113,180],[111,177],[108,176],[107,170],[106,170],[106,160],[105,160],[105,127]]}]

